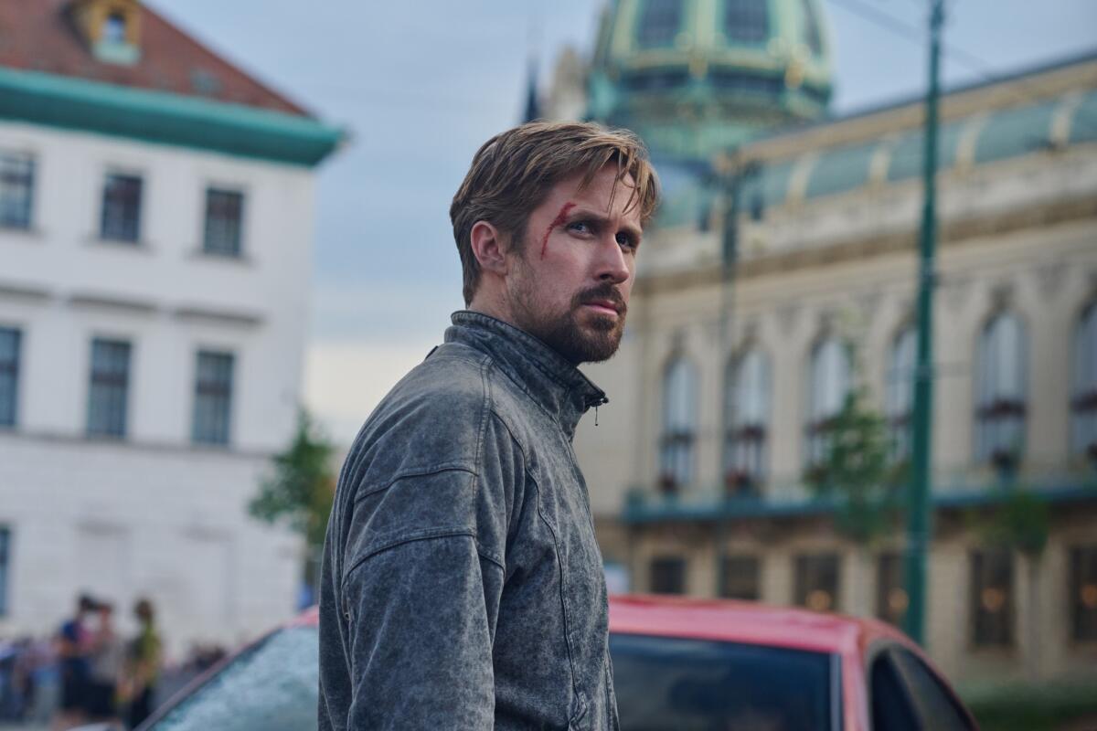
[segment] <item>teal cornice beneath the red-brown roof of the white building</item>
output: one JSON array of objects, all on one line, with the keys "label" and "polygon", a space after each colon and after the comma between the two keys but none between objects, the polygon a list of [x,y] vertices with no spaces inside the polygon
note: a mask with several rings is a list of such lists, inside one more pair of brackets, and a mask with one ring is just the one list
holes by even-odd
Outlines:
[{"label": "teal cornice beneath the red-brown roof of the white building", "polygon": [[346,137],[306,116],[4,67],[0,119],[305,167]]}]

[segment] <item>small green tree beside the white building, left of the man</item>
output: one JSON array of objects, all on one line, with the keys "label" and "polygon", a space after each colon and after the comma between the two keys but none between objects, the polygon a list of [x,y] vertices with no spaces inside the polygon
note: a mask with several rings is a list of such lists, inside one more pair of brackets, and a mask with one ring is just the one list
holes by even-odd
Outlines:
[{"label": "small green tree beside the white building, left of the man", "polygon": [[315,584],[316,557],[324,547],[335,499],[333,452],[335,447],[302,409],[290,445],[274,455],[272,472],[248,505],[255,517],[268,523],[285,522],[305,538],[308,549],[305,579],[310,585]]}]

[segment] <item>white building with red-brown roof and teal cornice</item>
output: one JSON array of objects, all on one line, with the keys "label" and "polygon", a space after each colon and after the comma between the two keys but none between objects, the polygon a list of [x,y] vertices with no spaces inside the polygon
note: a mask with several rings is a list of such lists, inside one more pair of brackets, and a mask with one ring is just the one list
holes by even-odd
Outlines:
[{"label": "white building with red-brown roof and teal cornice", "polygon": [[339,132],[136,1],[0,26],[0,635],[81,591],[151,597],[176,653],[253,635],[295,609],[301,542],[246,506],[294,426]]}]

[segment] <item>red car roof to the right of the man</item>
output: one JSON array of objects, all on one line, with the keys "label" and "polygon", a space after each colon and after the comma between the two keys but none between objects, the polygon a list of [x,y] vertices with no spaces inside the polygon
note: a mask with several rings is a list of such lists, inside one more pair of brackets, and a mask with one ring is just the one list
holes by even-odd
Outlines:
[{"label": "red car roof to the right of the man", "polygon": [[856,654],[878,639],[911,646],[902,632],[875,619],[678,596],[611,596],[610,632]]}]

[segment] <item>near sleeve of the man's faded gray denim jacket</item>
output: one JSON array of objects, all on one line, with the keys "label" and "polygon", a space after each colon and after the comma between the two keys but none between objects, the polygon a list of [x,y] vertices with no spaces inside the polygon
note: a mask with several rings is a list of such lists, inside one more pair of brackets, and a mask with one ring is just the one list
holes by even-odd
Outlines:
[{"label": "near sleeve of the man's faded gray denim jacket", "polygon": [[420,470],[357,495],[342,586],[347,728],[494,726],[491,650],[521,468],[509,436],[493,431],[471,467]]}]

